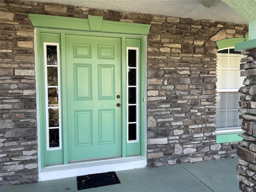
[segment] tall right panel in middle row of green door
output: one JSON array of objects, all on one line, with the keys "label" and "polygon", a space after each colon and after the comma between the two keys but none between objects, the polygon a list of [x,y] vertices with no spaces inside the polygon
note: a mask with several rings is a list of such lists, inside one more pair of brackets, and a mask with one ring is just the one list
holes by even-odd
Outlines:
[{"label": "tall right panel in middle row of green door", "polygon": [[115,98],[114,65],[98,65],[98,84],[99,100],[109,100]]}]

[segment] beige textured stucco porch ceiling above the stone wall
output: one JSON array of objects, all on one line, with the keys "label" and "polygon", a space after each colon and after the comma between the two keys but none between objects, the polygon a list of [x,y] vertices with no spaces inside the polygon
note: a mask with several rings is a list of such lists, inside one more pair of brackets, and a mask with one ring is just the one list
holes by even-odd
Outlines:
[{"label": "beige textured stucco porch ceiling above the stone wall", "polygon": [[[204,7],[199,0],[35,0],[72,6],[116,10],[122,12],[149,13],[154,15],[196,18],[248,24],[240,14],[224,2],[214,8]],[[246,2],[255,0],[232,0]]]}]

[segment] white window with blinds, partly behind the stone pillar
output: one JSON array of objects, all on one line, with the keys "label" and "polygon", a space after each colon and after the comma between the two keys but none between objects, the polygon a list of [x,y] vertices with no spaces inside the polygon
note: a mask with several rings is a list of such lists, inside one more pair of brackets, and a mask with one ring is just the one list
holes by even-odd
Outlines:
[{"label": "white window with blinds, partly behind the stone pillar", "polygon": [[217,54],[216,130],[241,128],[239,120],[239,88],[244,78],[240,77],[240,59],[243,56],[233,48],[219,50]]}]

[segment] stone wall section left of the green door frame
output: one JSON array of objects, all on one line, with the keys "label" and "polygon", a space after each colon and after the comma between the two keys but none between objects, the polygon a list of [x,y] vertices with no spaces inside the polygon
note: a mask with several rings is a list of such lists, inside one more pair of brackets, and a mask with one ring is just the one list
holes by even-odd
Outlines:
[{"label": "stone wall section left of the green door frame", "polygon": [[38,181],[34,28],[20,3],[1,1],[1,185]]}]

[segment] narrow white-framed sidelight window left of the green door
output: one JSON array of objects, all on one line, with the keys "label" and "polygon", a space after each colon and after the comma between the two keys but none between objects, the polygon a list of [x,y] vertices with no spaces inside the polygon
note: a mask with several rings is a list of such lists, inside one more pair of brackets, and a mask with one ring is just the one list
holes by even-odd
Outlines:
[{"label": "narrow white-framed sidelight window left of the green door", "polygon": [[60,58],[58,43],[44,43],[47,150],[61,149]]}]

